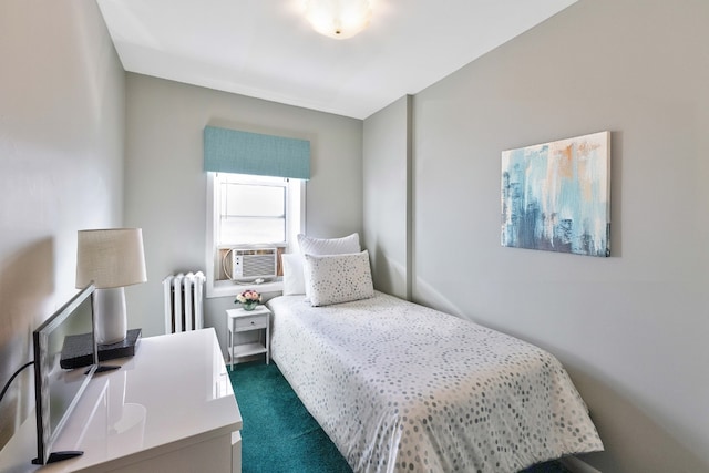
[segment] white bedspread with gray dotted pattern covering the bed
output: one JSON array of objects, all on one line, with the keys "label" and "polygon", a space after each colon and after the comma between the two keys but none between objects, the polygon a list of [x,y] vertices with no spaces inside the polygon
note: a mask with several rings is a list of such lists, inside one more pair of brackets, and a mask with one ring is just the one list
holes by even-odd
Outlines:
[{"label": "white bedspread with gray dotted pattern covering the bed", "polygon": [[273,359],[356,472],[517,472],[603,450],[568,374],[533,345],[381,292],[268,306]]}]

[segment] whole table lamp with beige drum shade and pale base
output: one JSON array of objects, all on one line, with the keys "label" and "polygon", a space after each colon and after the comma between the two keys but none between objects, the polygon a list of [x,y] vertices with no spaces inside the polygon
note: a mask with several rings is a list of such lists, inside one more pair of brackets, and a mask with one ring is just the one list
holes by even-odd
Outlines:
[{"label": "whole table lamp with beige drum shade and pale base", "polygon": [[125,339],[127,321],[123,287],[146,280],[141,228],[79,230],[76,288],[91,281],[96,286],[97,343],[111,345]]}]

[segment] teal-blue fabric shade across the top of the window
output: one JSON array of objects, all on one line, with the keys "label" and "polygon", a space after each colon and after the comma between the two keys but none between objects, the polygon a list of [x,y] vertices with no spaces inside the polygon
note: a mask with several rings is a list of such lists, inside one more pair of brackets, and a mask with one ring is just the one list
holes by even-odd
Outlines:
[{"label": "teal-blue fabric shade across the top of the window", "polygon": [[310,178],[310,142],[205,126],[204,169]]}]

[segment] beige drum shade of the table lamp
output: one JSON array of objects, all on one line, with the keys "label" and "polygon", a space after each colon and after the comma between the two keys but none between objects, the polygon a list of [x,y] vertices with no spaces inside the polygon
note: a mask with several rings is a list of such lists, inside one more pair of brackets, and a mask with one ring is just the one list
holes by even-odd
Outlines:
[{"label": "beige drum shade of the table lamp", "polygon": [[76,287],[116,288],[147,280],[141,228],[80,230]]}]

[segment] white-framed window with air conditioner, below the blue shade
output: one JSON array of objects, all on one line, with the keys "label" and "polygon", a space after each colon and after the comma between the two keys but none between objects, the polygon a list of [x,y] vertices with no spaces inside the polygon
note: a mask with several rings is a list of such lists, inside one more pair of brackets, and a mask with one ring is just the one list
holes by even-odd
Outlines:
[{"label": "white-framed window with air conditioner, below the blue shade", "polygon": [[236,295],[256,279],[265,280],[261,292],[280,290],[268,276],[277,275],[277,255],[289,250],[304,227],[305,181],[207,176],[207,297]]}]

